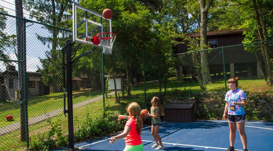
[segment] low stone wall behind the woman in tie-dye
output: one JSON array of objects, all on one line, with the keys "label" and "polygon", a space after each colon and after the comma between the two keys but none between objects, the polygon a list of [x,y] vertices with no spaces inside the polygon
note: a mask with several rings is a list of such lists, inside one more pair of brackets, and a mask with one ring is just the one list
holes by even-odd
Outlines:
[{"label": "low stone wall behind the woman in tie-dye", "polygon": [[[273,121],[272,94],[246,94],[247,106],[245,115],[247,120]],[[196,118],[222,119],[226,101],[225,94],[202,94],[191,98],[168,99],[168,102],[195,102]]]}]

